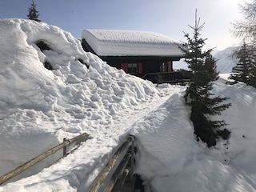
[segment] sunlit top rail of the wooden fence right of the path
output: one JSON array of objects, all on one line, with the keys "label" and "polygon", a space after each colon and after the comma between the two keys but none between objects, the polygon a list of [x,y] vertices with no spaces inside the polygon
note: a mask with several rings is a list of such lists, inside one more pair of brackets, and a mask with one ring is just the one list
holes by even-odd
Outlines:
[{"label": "sunlit top rail of the wooden fence right of the path", "polygon": [[107,162],[106,166],[103,168],[103,170],[98,174],[98,176],[94,179],[94,182],[90,185],[88,188],[88,192],[95,192],[100,189],[102,186],[102,183],[104,182],[107,175],[110,173],[110,171],[113,169],[116,162],[118,162],[118,158],[122,156],[124,152],[126,152],[126,147],[130,144],[132,138],[129,137],[126,139],[126,142],[122,143],[122,146],[118,148],[118,150],[114,153],[112,158],[110,158],[110,161]]}]

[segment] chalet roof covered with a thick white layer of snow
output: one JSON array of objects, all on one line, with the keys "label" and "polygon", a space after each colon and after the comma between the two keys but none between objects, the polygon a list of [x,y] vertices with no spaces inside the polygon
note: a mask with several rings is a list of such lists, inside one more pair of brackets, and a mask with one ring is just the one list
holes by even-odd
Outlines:
[{"label": "chalet roof covered with a thick white layer of snow", "polygon": [[83,30],[82,38],[99,56],[181,57],[180,42],[163,34],[133,30]]}]

